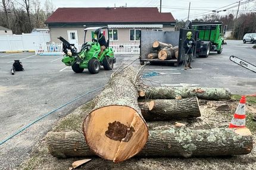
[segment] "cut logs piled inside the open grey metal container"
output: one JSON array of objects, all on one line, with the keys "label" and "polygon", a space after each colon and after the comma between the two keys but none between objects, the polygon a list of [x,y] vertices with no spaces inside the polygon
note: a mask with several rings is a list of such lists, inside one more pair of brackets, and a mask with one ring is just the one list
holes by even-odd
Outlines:
[{"label": "cut logs piled inside the open grey metal container", "polygon": [[179,56],[179,47],[173,47],[171,44],[154,41],[148,59],[170,60],[177,59]]}]

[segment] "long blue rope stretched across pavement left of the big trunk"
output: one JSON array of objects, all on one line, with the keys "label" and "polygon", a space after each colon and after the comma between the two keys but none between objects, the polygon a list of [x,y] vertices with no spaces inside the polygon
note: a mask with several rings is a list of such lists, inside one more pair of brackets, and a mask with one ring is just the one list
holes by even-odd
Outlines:
[{"label": "long blue rope stretched across pavement left of the big trunk", "polygon": [[16,131],[14,134],[11,134],[11,136],[7,137],[7,139],[2,140],[2,141],[0,142],[0,145],[2,145],[3,143],[7,142],[8,140],[10,140],[11,138],[13,138],[14,136],[16,136],[16,135],[17,135],[18,133],[20,133],[21,131],[26,130],[28,127],[32,126],[32,124],[35,124],[36,122],[38,122],[38,121],[41,120],[42,118],[48,116],[49,114],[52,114],[52,113],[54,113],[55,111],[59,110],[60,108],[63,108],[63,107],[65,107],[66,105],[70,104],[71,102],[76,101],[76,100],[79,100],[79,98],[82,98],[82,97],[84,97],[85,95],[88,95],[88,94],[90,94],[90,93],[92,93],[92,92],[95,92],[95,91],[97,91],[98,89],[101,89],[101,88],[103,88],[103,87],[104,87],[104,86],[101,86],[101,87],[99,87],[99,88],[93,89],[92,91],[86,92],[85,94],[81,95],[80,97],[77,97],[77,98],[75,98],[74,100],[71,100],[71,101],[67,102],[67,103],[64,104],[64,105],[61,105],[61,107],[58,107],[58,108],[56,108],[55,110],[53,110],[53,111],[51,111],[51,112],[49,112],[49,113],[47,113],[47,114],[44,114],[44,115],[41,116],[41,117],[36,118],[36,120],[34,120],[32,123],[27,124],[26,126],[24,126],[23,128],[21,128],[20,130]]}]

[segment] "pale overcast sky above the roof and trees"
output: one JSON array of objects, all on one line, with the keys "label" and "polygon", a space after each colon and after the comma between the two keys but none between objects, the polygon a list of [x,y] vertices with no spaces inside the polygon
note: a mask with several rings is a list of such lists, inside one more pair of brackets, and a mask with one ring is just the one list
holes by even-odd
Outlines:
[{"label": "pale overcast sky above the roof and trees", "polygon": [[[44,0],[42,0],[44,1]],[[213,10],[219,11],[218,15],[234,14],[238,9],[238,1],[232,0],[162,0],[162,12],[171,12],[173,17],[178,20],[185,20],[188,18],[189,2],[191,2],[191,11],[189,19],[204,18],[205,14],[212,14]],[[256,12],[256,3],[248,2],[252,0],[241,1],[240,11],[254,11]],[[158,7],[160,8],[160,0],[61,0],[52,1],[55,8],[60,7]],[[248,2],[248,3],[246,3]],[[42,3],[43,4],[43,3]],[[230,9],[228,9],[230,8]],[[227,9],[226,12],[223,10]]]}]

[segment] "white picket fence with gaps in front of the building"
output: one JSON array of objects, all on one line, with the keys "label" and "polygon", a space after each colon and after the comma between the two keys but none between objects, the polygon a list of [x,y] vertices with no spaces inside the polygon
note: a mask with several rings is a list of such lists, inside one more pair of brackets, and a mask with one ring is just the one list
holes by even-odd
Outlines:
[{"label": "white picket fence with gaps in front of the building", "polygon": [[[36,54],[39,55],[60,55],[62,52],[62,43],[43,43],[36,46]],[[114,54],[140,54],[140,43],[111,43]],[[77,50],[80,51],[82,44],[79,44]]]}]

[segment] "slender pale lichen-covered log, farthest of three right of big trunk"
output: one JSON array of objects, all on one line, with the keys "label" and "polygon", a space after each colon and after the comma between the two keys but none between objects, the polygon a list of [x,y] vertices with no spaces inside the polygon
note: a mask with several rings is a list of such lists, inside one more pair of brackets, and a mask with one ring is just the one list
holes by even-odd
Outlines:
[{"label": "slender pale lichen-covered log, farthest of three right of big trunk", "polygon": [[205,100],[230,100],[229,89],[202,87],[146,86],[138,87],[139,97],[152,99],[175,99],[176,97],[198,97]]}]

